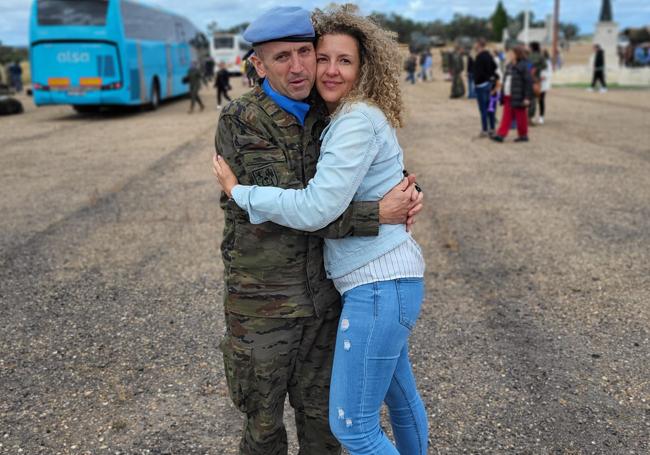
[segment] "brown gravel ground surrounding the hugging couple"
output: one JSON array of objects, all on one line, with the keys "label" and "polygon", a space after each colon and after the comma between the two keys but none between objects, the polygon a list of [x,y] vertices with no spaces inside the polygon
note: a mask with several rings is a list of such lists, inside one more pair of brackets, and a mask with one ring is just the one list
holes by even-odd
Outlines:
[{"label": "brown gravel ground surrounding the hugging couple", "polygon": [[[553,90],[530,143],[495,144],[448,90],[405,87],[400,131],[430,453],[650,453],[650,91]],[[0,453],[236,454],[218,112],[23,101],[0,119]]]}]

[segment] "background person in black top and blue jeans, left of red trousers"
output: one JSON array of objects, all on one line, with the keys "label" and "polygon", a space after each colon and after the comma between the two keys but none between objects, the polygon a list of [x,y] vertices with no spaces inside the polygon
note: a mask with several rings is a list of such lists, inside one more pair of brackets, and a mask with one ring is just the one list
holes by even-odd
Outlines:
[{"label": "background person in black top and blue jeans, left of red trousers", "polygon": [[499,80],[497,75],[497,64],[490,51],[485,49],[485,38],[479,38],[476,42],[476,60],[474,61],[474,72],[472,81],[476,85],[476,102],[481,114],[480,137],[487,137],[494,134],[495,113],[488,110],[490,106],[490,94],[495,89]]}]

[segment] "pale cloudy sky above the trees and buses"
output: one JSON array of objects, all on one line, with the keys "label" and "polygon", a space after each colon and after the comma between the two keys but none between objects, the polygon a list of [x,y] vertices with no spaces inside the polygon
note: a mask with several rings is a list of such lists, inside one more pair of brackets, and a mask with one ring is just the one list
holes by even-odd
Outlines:
[{"label": "pale cloudy sky above the trees and buses", "polygon": [[[0,41],[10,45],[26,45],[28,42],[29,10],[32,0],[0,0]],[[199,28],[211,21],[221,27],[249,22],[262,11],[274,6],[301,5],[312,9],[324,7],[330,0],[148,0],[144,3],[160,5],[168,10],[189,17]],[[380,11],[396,12],[411,19],[431,21],[449,20],[454,13],[488,17],[494,11],[497,0],[358,0],[363,13]],[[503,0],[510,15],[522,11],[526,3],[541,18],[553,11],[553,0]],[[601,0],[562,0],[560,20],[574,22],[581,33],[591,33],[598,20]],[[614,20],[621,27],[650,25],[650,0],[612,0]]]}]

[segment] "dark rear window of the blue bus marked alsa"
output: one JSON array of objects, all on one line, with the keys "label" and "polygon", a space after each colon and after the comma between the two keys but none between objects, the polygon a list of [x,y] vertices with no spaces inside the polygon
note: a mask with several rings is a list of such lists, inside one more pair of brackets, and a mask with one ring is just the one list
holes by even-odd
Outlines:
[{"label": "dark rear window of the blue bus marked alsa", "polygon": [[38,0],[39,25],[106,25],[108,0]]}]

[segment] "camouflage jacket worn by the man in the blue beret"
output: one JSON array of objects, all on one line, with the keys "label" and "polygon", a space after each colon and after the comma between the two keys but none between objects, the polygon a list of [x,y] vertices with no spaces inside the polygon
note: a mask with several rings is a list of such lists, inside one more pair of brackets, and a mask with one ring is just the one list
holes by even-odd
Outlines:
[{"label": "camouflage jacket worn by the man in the blue beret", "polygon": [[[302,127],[256,86],[223,110],[215,145],[240,183],[301,189],[316,173],[325,126],[322,109],[312,107]],[[377,235],[379,229],[377,202],[355,202],[339,219],[312,233],[273,223],[252,225],[248,214],[223,193],[221,207],[224,306],[248,316],[322,314],[339,299],[325,275],[323,238]]]}]

